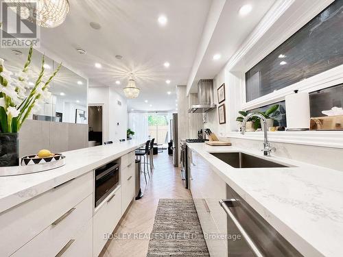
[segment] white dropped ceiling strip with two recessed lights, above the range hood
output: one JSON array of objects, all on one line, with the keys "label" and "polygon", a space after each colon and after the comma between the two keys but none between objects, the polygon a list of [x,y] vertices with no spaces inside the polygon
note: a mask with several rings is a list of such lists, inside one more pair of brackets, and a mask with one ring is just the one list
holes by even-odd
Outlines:
[{"label": "white dropped ceiling strip with two recessed lights, above the range hood", "polygon": [[[228,60],[257,26],[276,0],[227,0],[220,19],[209,41],[202,62],[192,82],[190,93],[196,93],[199,79],[213,78],[223,69]],[[242,5],[252,5],[252,11],[246,16],[239,15]],[[220,60],[213,60],[219,53]]]}]

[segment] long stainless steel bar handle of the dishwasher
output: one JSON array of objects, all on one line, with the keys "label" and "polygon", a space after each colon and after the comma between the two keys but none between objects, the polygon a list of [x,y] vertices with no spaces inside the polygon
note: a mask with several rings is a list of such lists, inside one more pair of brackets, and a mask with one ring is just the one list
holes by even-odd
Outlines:
[{"label": "long stainless steel bar handle of the dishwasher", "polygon": [[[250,238],[246,230],[244,230],[244,228],[241,226],[241,223],[239,223],[239,221],[235,218],[235,215],[233,215],[233,212],[231,212],[231,210],[228,208],[228,205],[230,207],[235,207],[235,202],[237,202],[236,199],[227,199],[227,200],[221,199],[219,201],[219,204],[220,206],[222,206],[222,208],[224,209],[228,217],[230,217],[230,219],[233,221],[233,223],[235,223],[237,229],[241,233],[241,236],[244,237],[244,239],[246,240],[246,243],[248,243],[252,252],[254,252],[254,254],[258,257],[264,257],[264,255],[260,252],[259,248],[255,245],[254,241],[252,241],[252,239]],[[226,203],[228,203],[228,205]]]}]

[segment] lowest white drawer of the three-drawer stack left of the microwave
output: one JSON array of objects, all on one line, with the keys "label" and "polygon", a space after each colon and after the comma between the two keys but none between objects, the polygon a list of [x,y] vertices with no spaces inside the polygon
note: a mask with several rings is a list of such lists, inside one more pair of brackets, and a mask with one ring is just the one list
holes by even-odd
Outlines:
[{"label": "lowest white drawer of the three-drawer stack left of the microwave", "polygon": [[70,246],[64,245],[60,251],[62,257],[93,256],[93,219],[89,219],[67,244]]}]

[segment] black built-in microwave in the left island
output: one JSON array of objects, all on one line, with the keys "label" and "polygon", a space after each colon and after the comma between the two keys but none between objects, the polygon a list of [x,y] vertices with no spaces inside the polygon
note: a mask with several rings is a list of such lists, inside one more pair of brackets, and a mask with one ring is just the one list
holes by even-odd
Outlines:
[{"label": "black built-in microwave in the left island", "polygon": [[95,169],[95,207],[104,201],[119,186],[119,164],[117,160]]}]

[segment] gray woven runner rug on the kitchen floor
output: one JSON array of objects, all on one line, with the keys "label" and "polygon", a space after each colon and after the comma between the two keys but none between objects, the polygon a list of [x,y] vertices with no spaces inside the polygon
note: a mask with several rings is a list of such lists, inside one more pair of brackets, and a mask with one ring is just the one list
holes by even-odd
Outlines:
[{"label": "gray woven runner rug on the kitchen floor", "polygon": [[160,199],[147,257],[210,256],[193,199]]}]

